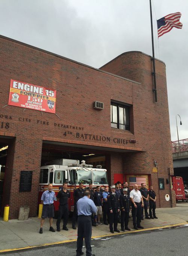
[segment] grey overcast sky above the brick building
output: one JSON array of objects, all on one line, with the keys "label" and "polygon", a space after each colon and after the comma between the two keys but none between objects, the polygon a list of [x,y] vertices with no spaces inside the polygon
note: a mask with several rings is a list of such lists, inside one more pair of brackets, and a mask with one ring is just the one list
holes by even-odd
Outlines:
[{"label": "grey overcast sky above the brick building", "polygon": [[[188,1],[152,0],[155,57],[167,72],[171,140],[188,138]],[[181,12],[158,39],[156,20]],[[152,55],[149,0],[0,0],[0,34],[99,68],[127,51]]]}]

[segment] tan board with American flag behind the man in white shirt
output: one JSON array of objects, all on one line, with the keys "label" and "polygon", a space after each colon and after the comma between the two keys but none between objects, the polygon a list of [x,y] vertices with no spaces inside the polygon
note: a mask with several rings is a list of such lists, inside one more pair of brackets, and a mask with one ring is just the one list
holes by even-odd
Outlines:
[{"label": "tan board with American flag behind the man in white shirt", "polygon": [[147,174],[126,175],[126,181],[129,184],[129,189],[133,189],[135,184],[141,187],[141,183],[146,184],[146,188],[149,189],[149,177]]}]

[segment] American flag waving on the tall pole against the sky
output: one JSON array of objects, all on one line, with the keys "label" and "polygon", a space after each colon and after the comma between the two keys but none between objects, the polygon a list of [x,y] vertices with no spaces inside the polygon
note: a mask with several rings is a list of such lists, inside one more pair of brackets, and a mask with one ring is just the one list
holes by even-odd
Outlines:
[{"label": "American flag waving on the tall pole against the sky", "polygon": [[158,37],[171,31],[172,28],[182,28],[183,25],[179,21],[181,15],[180,12],[175,12],[157,20]]}]

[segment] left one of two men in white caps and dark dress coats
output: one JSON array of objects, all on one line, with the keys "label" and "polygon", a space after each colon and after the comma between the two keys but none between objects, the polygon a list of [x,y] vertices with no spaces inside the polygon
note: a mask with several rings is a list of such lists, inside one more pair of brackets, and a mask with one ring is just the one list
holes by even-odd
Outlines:
[{"label": "left one of two men in white caps and dark dress coats", "polygon": [[[120,232],[117,229],[118,224],[118,212],[120,212],[120,202],[118,200],[118,196],[115,194],[115,185],[112,185],[111,192],[108,195],[108,210],[109,210],[109,227],[111,233]],[[114,228],[113,228],[114,224]]]}]

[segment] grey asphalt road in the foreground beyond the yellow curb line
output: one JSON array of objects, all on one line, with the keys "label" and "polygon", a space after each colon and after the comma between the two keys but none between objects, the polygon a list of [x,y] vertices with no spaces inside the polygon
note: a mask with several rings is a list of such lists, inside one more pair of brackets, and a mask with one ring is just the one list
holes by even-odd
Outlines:
[{"label": "grey asphalt road in the foreground beyond the yellow curb line", "polygon": [[[142,231],[126,235],[93,239],[92,253],[96,256],[144,255],[185,256],[188,247],[188,226]],[[83,248],[85,255],[85,248]],[[40,247],[31,250],[0,253],[10,256],[76,256],[76,242]]]}]

